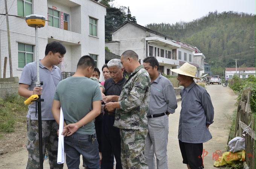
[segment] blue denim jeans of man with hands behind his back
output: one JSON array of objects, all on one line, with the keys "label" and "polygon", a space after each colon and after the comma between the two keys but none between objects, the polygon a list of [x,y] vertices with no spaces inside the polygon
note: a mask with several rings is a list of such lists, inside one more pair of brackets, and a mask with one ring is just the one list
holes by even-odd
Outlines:
[{"label": "blue denim jeans of man with hands behind his back", "polygon": [[100,169],[96,134],[74,133],[69,137],[64,137],[64,151],[69,169],[79,169],[80,155],[83,156],[83,163],[87,169]]}]

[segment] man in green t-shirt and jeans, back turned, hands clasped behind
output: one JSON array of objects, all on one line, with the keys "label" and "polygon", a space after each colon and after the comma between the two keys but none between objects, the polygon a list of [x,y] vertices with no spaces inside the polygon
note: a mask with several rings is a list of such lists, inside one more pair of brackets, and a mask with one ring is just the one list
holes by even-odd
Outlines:
[{"label": "man in green t-shirt and jeans, back turned, hands clasped behind", "polygon": [[60,107],[64,115],[64,151],[68,168],[79,168],[80,155],[88,168],[100,169],[94,119],[101,113],[102,95],[98,83],[90,80],[95,62],[82,56],[76,73],[56,87],[52,114],[59,124]]}]

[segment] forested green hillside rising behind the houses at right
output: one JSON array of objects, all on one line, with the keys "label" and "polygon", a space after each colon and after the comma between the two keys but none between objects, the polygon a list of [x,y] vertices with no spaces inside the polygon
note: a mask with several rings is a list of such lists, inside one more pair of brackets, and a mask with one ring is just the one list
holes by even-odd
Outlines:
[{"label": "forested green hillside rising behind the houses at right", "polygon": [[198,47],[215,74],[234,67],[233,59],[238,59],[238,66],[255,66],[256,48],[250,48],[256,47],[255,14],[215,11],[188,23],[152,23],[146,27]]}]

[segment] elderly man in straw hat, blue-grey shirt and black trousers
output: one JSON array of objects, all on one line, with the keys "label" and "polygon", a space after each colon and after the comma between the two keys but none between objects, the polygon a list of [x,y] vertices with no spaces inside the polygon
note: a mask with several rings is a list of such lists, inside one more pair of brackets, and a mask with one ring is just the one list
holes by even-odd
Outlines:
[{"label": "elderly man in straw hat, blue-grey shirt and black trousers", "polygon": [[178,139],[183,163],[188,169],[203,169],[203,143],[212,138],[209,125],[213,123],[213,106],[206,89],[195,84],[197,68],[184,63],[178,69],[177,79],[184,89],[181,90],[181,111]]}]

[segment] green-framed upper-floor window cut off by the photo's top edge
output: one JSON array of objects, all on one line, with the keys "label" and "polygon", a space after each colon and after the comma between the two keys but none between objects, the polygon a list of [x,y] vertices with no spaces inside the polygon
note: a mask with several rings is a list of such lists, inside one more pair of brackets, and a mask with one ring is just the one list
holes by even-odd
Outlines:
[{"label": "green-framed upper-floor window cut off by the photo's top edge", "polygon": [[18,15],[26,17],[32,14],[32,0],[17,0]]}]

